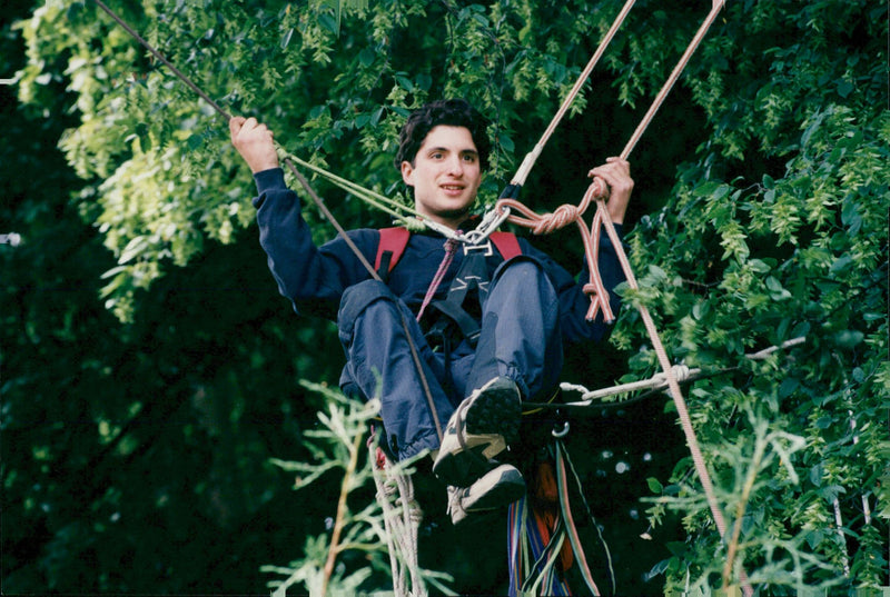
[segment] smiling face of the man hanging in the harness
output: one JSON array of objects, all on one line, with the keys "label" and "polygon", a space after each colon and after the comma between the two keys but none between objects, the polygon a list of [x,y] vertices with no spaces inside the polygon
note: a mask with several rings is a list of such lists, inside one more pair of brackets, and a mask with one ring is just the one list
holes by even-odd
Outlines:
[{"label": "smiling face of the man hanging in the harness", "polygon": [[424,139],[414,163],[402,162],[414,187],[414,206],[431,220],[456,228],[466,218],[482,181],[479,155],[464,127],[439,125]]}]

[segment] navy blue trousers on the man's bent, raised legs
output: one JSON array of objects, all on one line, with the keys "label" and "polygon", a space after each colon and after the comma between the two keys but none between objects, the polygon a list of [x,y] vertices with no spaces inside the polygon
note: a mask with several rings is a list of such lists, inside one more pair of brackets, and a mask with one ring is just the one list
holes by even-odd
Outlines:
[{"label": "navy blue trousers on the man's bent, raised legs", "polygon": [[524,398],[535,398],[555,388],[562,371],[556,292],[541,265],[524,256],[495,270],[476,347],[462,340],[447,365],[415,315],[380,281],[348,288],[337,321],[347,358],[340,386],[347,394],[380,398],[386,445],[399,460],[439,444],[406,327],[443,430],[461,400],[494,377],[513,379]]}]

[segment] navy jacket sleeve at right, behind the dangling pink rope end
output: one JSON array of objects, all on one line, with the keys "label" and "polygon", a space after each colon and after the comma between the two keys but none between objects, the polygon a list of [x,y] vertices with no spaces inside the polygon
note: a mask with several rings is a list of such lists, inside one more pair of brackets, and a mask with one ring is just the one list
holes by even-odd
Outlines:
[{"label": "navy jacket sleeve at right, behind the dangling pink rope end", "polygon": [[[615,225],[619,238],[622,238],[622,226]],[[596,314],[593,321],[587,321],[587,310],[591,306],[590,297],[584,293],[584,285],[590,281],[590,269],[584,258],[584,266],[577,278],[573,277],[561,265],[551,257],[533,249],[532,255],[546,263],[546,270],[551,276],[556,293],[560,298],[560,324],[563,334],[563,341],[567,344],[578,344],[585,341],[602,341],[609,337],[612,325],[606,324],[603,318],[602,309]],[[543,255],[544,258],[540,256]],[[615,317],[621,308],[621,298],[615,293],[615,287],[624,281],[624,271],[621,269],[615,248],[607,235],[600,237],[599,256],[600,276],[609,291],[609,305]]]}]

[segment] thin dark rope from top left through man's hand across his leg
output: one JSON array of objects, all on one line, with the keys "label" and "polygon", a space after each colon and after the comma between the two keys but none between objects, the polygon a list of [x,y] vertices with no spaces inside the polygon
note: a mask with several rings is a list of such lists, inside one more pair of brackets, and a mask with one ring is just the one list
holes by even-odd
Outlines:
[{"label": "thin dark rope from top left through man's hand across his leg", "polygon": [[[214,110],[216,110],[217,113],[219,113],[221,117],[224,117],[227,121],[231,120],[231,115],[229,115],[217,102],[215,102],[207,93],[205,93],[197,84],[195,84],[191,81],[191,79],[186,77],[186,74],[182,73],[182,71],[180,71],[172,63],[170,63],[170,61],[167,60],[157,49],[155,49],[148,41],[146,41],[139,33],[137,33],[135,29],[132,29],[120,17],[118,17],[110,8],[108,8],[105,4],[105,2],[102,2],[102,0],[93,0],[93,1],[96,2],[96,4],[100,9],[102,9],[106,13],[108,13],[108,16],[111,17],[111,19],[113,19],[115,22],[120,24],[127,31],[127,33],[130,34],[130,37],[132,37],[142,47],[145,47],[149,52],[151,52],[151,54],[155,56],[158,60],[164,62],[164,64],[167,66],[174,72],[174,74],[176,74],[184,83],[186,83],[189,87],[189,89],[195,91],[198,96],[200,96],[201,99],[207,101],[207,103],[209,103],[210,107]],[[368,260],[365,258],[365,256],[362,253],[362,251],[358,249],[358,247],[356,247],[355,242],[353,242],[353,240],[346,233],[346,230],[344,230],[344,228],[339,225],[339,222],[334,217],[334,215],[330,212],[330,210],[327,209],[327,206],[325,206],[325,202],[322,200],[322,198],[318,197],[318,193],[316,193],[315,190],[312,188],[312,186],[309,186],[309,182],[308,182],[308,180],[306,180],[306,177],[304,177],[299,172],[299,170],[297,170],[296,166],[294,166],[294,162],[291,161],[291,159],[289,157],[286,157],[284,162],[287,166],[287,168],[290,170],[290,173],[294,175],[294,178],[297,179],[297,181],[300,183],[303,189],[312,198],[313,202],[316,205],[316,207],[322,212],[322,215],[337,230],[337,235],[339,235],[340,238],[343,238],[343,240],[346,242],[346,245],[349,247],[349,249],[356,256],[356,258],[362,263],[362,266],[367,270],[367,272],[370,275],[370,277],[373,279],[375,279],[375,280],[380,281],[380,277],[377,273],[377,271],[374,269],[374,266],[372,266],[368,262]],[[300,163],[308,166],[307,162],[305,162],[303,160],[300,160]],[[312,167],[312,168],[317,171],[317,167]],[[357,185],[356,185],[356,187],[357,187]],[[372,193],[373,191],[367,191],[367,192]],[[407,338],[408,347],[411,348],[412,360],[414,361],[414,366],[415,366],[415,368],[417,370],[417,375],[421,378],[421,382],[422,382],[422,385],[424,387],[424,394],[425,394],[425,397],[426,397],[427,408],[429,409],[429,411],[431,411],[431,414],[433,416],[433,422],[436,426],[436,434],[438,435],[438,438],[439,438],[439,441],[441,441],[442,438],[443,438],[442,424],[441,424],[441,421],[438,419],[438,414],[436,412],[435,404],[433,401],[433,394],[429,390],[429,384],[428,384],[428,381],[426,379],[426,375],[424,374],[423,365],[421,362],[421,357],[419,357],[419,354],[417,351],[417,347],[415,346],[415,342],[412,339],[411,331],[409,331],[409,328],[408,328],[408,322],[405,319],[404,315],[402,316],[402,327],[403,327],[403,330],[405,332],[405,337]]]}]

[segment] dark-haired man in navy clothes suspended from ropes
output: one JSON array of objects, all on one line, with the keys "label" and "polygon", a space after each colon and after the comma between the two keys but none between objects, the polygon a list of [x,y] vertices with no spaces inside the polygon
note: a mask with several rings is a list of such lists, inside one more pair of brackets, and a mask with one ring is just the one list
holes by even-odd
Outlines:
[{"label": "dark-haired man in navy clothes suspended from ropes", "polygon": [[[599,341],[607,334],[602,320],[585,320],[584,282],[525,239],[518,239],[521,255],[505,260],[486,245],[482,259],[481,251],[458,250],[429,231],[411,236],[386,283],[375,280],[342,238],[313,243],[271,132],[243,117],[229,128],[254,173],[260,243],[279,290],[297,312],[337,321],[347,357],[340,386],[379,395],[388,451],[398,459],[425,450],[434,456],[433,472],[449,487],[454,523],[517,499],[525,489],[522,475],[495,457],[516,439],[522,400],[557,387],[564,341]],[[395,162],[419,213],[466,230],[475,228],[469,212],[488,150],[483,117],[463,100],[441,100],[411,115]],[[629,163],[610,158],[592,175],[611,188],[607,207],[620,229],[633,189]],[[376,260],[380,231],[353,230],[349,237],[368,261]],[[477,269],[464,270],[469,263]],[[600,271],[610,291],[622,279],[605,236]],[[459,304],[449,305],[449,289],[466,291],[467,280],[474,282],[471,296],[461,293]],[[617,298],[611,299],[616,310]],[[467,325],[475,331],[461,334]],[[448,421],[442,441],[439,420]]]}]

